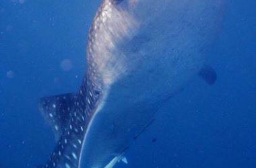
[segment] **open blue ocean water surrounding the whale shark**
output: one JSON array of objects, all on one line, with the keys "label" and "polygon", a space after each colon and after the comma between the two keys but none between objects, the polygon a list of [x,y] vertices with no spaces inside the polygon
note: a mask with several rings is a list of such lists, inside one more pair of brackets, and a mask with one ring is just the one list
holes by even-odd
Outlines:
[{"label": "open blue ocean water surrounding the whale shark", "polygon": [[[99,0],[0,0],[0,167],[36,167],[55,146],[38,99],[76,91]],[[165,103],[117,167],[256,167],[256,1],[229,0],[208,64]]]}]

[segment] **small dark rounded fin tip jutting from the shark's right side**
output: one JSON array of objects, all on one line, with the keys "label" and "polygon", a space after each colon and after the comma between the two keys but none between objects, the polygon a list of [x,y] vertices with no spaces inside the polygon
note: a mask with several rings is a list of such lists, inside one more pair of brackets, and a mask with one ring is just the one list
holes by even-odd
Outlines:
[{"label": "small dark rounded fin tip jutting from the shark's right side", "polygon": [[214,85],[217,79],[216,71],[209,65],[204,65],[198,73],[208,85]]}]

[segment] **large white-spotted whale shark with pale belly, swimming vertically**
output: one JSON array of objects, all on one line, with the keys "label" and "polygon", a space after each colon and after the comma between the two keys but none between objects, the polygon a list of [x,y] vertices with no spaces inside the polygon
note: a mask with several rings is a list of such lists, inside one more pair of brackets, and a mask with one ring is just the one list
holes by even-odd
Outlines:
[{"label": "large white-spotted whale shark with pale belly, swimming vertically", "polygon": [[57,144],[40,167],[110,168],[160,106],[199,75],[218,34],[224,0],[104,0],[88,34],[86,73],[74,93],[43,97]]}]

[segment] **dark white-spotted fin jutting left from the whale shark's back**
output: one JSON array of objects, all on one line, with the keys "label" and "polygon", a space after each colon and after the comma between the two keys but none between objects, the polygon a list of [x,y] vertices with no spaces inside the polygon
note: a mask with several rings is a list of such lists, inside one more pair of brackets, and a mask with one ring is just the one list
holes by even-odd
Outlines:
[{"label": "dark white-spotted fin jutting left from the whale shark's back", "polygon": [[69,111],[71,110],[74,94],[66,93],[51,97],[43,97],[39,102],[39,110],[44,119],[49,123],[55,132],[55,138],[59,139],[67,125]]}]

